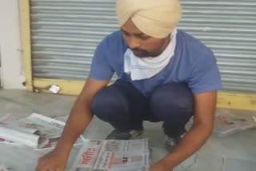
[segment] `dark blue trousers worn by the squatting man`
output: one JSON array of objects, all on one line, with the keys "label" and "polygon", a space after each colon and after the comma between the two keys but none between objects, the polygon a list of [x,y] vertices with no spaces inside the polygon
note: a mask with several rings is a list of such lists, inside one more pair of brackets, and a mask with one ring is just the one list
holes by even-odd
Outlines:
[{"label": "dark blue trousers worn by the squatting man", "polygon": [[92,104],[94,115],[115,129],[142,129],[143,121],[163,121],[166,135],[178,136],[194,114],[193,95],[184,84],[161,85],[145,97],[130,82],[118,80],[100,90]]}]

